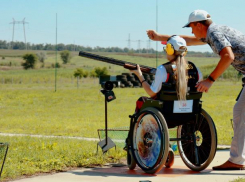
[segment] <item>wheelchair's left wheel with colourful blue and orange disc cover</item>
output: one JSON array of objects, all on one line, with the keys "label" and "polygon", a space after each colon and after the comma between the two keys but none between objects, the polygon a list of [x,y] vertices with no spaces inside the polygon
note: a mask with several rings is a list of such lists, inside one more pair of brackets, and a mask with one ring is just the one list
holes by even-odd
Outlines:
[{"label": "wheelchair's left wheel with colourful blue and orange disc cover", "polygon": [[135,118],[132,134],[132,154],[146,173],[162,169],[168,157],[169,137],[166,121],[157,109],[143,109]]}]

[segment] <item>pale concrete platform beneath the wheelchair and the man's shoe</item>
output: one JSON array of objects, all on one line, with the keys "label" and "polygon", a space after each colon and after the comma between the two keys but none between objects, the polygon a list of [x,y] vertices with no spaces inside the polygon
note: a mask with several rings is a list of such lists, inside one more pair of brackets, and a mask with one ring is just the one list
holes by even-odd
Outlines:
[{"label": "pale concrete platform beneath the wheelchair and the man's shoe", "polygon": [[127,166],[98,168],[80,168],[68,172],[41,175],[15,180],[15,182],[229,182],[238,177],[245,179],[245,170],[213,171],[212,167],[224,163],[229,157],[229,150],[217,151],[213,162],[201,172],[191,171],[179,156],[175,156],[172,168],[163,168],[154,175],[144,173],[140,168],[129,170]]}]

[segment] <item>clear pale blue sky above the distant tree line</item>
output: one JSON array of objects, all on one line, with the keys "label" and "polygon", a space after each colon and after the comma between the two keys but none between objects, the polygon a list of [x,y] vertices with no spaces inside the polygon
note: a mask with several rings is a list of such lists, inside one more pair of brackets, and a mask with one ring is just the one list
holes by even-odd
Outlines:
[{"label": "clear pale blue sky above the distant tree line", "polygon": [[[56,13],[58,43],[82,46],[147,48],[146,30],[156,29],[158,2],[158,32],[192,35],[182,28],[189,14],[204,9],[216,24],[228,25],[245,33],[244,0],[0,0],[0,39],[11,41],[13,18],[25,21],[26,39],[30,43],[56,43]],[[24,42],[23,25],[15,26],[15,41]],[[151,48],[156,43],[151,42]],[[158,43],[158,50],[162,49]],[[191,46],[193,51],[209,51],[208,46]]]}]

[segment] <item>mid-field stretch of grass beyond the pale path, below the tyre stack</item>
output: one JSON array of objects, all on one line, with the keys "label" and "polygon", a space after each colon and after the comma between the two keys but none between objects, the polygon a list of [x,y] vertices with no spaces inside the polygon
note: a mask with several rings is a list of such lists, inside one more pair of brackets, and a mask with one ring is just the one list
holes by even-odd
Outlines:
[{"label": "mid-field stretch of grass beyond the pale path, below the tyre stack", "polygon": [[[104,128],[104,96],[97,81],[90,85],[84,80],[78,89],[58,84],[57,92],[52,85],[1,85],[1,132],[97,137],[97,129]],[[203,94],[203,108],[216,124],[219,144],[230,144],[230,119],[240,88],[237,82],[217,82]],[[108,103],[109,128],[129,126],[135,101],[146,93],[142,88],[114,92],[117,99]]]}]

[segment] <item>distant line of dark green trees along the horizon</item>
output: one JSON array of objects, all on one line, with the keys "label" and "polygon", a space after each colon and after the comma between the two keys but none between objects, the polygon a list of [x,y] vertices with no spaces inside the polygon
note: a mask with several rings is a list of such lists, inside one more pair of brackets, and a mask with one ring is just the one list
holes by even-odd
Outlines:
[{"label": "distant line of dark green trees along the horizon", "polygon": [[[56,45],[54,44],[31,44],[24,42],[7,42],[0,40],[0,49],[14,49],[14,50],[56,50]],[[63,51],[63,50],[69,50],[69,51],[88,51],[88,52],[116,52],[116,53],[152,53],[155,54],[156,51],[154,49],[140,49],[140,50],[134,50],[134,49],[128,49],[128,48],[119,48],[119,47],[84,47],[80,45],[75,44],[57,44],[57,50]],[[162,52],[162,51],[158,51]],[[195,56],[195,57],[215,57],[216,55],[211,52],[195,52],[195,51],[188,51],[188,56]]]}]

